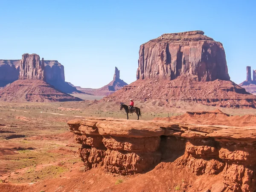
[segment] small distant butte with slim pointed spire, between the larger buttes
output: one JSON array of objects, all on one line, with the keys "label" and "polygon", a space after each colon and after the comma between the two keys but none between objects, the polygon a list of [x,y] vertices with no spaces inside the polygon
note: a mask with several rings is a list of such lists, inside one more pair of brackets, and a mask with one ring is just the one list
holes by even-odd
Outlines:
[{"label": "small distant butte with slim pointed spire, between the larger buttes", "polygon": [[111,93],[116,92],[117,90],[121,89],[127,85],[125,81],[120,79],[120,71],[115,67],[115,73],[113,77],[113,81],[111,81],[109,84],[105,85],[104,87],[101,87],[97,90],[93,91],[93,95],[110,95]]}]

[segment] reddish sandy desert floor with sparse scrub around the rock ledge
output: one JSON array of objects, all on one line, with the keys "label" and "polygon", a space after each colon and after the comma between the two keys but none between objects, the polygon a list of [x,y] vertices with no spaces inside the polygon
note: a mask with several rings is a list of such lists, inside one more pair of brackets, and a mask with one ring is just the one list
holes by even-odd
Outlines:
[{"label": "reddish sandy desert floor with sparse scrub around the rock ledge", "polygon": [[[174,122],[236,126],[256,122],[255,109],[219,108],[233,116],[221,113],[199,116],[186,114],[186,111],[216,108],[182,102],[172,108],[151,103],[136,105],[141,108],[144,120],[164,118]],[[195,177],[186,169],[177,169],[171,162],[162,162],[145,174],[132,176],[110,174],[101,169],[84,172],[77,154],[80,145],[74,143],[67,121],[86,116],[125,118],[126,114],[116,102],[0,102],[0,191],[203,191],[207,183],[218,181],[217,176]],[[137,117],[131,115],[130,118]]]}]

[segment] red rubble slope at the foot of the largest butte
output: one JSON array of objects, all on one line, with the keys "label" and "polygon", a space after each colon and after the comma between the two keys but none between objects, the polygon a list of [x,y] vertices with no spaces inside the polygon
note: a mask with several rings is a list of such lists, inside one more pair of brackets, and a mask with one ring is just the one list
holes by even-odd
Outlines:
[{"label": "red rubble slope at the foot of the largest butte", "polygon": [[162,106],[184,101],[228,108],[256,107],[256,96],[232,81],[198,82],[191,76],[179,76],[172,81],[139,79],[101,101],[126,102],[130,98],[134,99],[135,104],[136,101],[155,101]]}]

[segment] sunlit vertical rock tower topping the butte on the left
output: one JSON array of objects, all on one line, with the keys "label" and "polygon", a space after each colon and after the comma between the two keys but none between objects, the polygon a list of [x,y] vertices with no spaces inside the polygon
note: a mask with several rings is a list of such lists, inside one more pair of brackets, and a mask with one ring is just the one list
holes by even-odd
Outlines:
[{"label": "sunlit vertical rock tower topping the butte on the left", "polygon": [[20,61],[19,79],[44,80],[44,58],[40,61],[37,54],[23,54]]}]

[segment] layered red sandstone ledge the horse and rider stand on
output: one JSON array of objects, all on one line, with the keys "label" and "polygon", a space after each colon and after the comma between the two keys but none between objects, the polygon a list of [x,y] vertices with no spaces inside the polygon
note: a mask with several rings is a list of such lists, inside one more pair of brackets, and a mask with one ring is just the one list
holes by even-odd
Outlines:
[{"label": "layered red sandstone ledge the horse and rider stand on", "polygon": [[112,118],[71,120],[68,125],[81,144],[87,170],[102,166],[131,175],[160,161],[173,162],[194,175],[218,175],[224,183],[221,191],[256,190],[256,127]]}]

